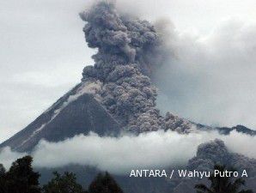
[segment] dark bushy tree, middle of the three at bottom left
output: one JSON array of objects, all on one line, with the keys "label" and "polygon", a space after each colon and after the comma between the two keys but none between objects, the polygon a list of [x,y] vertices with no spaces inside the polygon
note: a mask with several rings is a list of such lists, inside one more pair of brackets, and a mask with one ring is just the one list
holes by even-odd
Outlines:
[{"label": "dark bushy tree, middle of the three at bottom left", "polygon": [[53,172],[52,180],[44,185],[44,193],[85,193],[82,185],[76,183],[76,174],[72,172],[64,172],[60,175],[58,172]]}]

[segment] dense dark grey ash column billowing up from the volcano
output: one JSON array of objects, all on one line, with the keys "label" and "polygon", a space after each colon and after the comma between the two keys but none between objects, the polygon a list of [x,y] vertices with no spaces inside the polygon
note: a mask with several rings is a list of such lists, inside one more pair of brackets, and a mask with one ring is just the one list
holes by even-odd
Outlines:
[{"label": "dense dark grey ash column billowing up from the volcano", "polygon": [[149,79],[161,60],[155,28],[119,15],[106,1],[94,4],[81,18],[87,21],[83,31],[88,46],[98,49],[94,66],[83,69],[82,81],[101,81],[101,103],[128,130],[167,129],[173,117],[162,118],[155,108],[156,89]]}]

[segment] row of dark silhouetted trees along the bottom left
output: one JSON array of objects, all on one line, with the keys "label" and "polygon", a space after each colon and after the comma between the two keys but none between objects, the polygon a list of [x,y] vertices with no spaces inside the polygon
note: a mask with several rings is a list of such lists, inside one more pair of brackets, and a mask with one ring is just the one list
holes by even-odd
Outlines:
[{"label": "row of dark silhouetted trees along the bottom left", "polygon": [[15,160],[8,172],[0,164],[0,193],[123,193],[108,172],[99,173],[88,190],[76,182],[72,172],[53,172],[52,180],[40,187],[40,173],[34,172],[32,162],[31,156]]}]

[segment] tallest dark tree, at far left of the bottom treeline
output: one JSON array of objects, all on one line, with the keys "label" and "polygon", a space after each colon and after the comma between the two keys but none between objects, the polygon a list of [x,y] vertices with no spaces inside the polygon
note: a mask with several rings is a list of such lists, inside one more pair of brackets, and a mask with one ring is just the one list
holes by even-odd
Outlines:
[{"label": "tallest dark tree, at far left of the bottom treeline", "polygon": [[40,174],[31,166],[32,157],[16,160],[5,174],[5,184],[9,193],[40,193]]}]

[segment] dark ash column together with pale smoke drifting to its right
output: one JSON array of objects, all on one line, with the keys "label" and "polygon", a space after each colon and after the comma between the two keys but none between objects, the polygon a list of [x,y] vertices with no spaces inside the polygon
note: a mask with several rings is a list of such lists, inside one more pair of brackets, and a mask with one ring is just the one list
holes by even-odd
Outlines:
[{"label": "dark ash column together with pale smoke drifting to its right", "polygon": [[[255,73],[250,68],[255,44],[247,39],[253,37],[252,27],[228,21],[228,27],[208,37],[193,37],[173,24],[168,28],[168,21],[156,21],[153,27],[119,15],[106,1],[81,17],[87,21],[88,46],[98,49],[82,81],[103,82],[102,104],[128,130],[170,129],[163,115],[167,111],[213,126],[254,125]],[[157,107],[162,112],[155,107],[157,94],[149,77],[159,87]],[[181,131],[189,128],[186,124]]]}]

